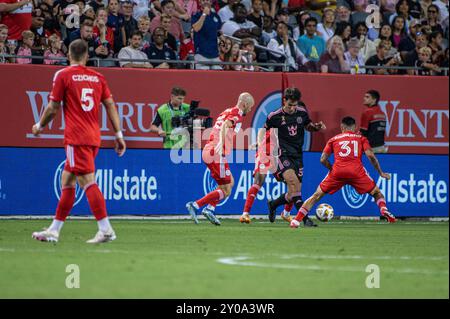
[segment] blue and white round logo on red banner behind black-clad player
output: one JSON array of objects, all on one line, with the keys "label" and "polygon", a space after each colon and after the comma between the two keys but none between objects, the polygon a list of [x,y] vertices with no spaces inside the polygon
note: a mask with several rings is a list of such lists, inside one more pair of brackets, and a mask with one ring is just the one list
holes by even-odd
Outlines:
[{"label": "blue and white round logo on red banner behind black-clad player", "polygon": [[[271,112],[278,110],[281,106],[282,106],[281,92],[275,91],[270,93],[261,101],[258,108],[256,109],[255,115],[253,116],[252,127],[256,131],[260,128],[263,128],[264,124],[266,123],[267,116]],[[252,144],[256,143],[256,135],[257,134],[252,134]],[[310,148],[311,148],[311,133],[305,131],[303,150],[309,151]]]}]

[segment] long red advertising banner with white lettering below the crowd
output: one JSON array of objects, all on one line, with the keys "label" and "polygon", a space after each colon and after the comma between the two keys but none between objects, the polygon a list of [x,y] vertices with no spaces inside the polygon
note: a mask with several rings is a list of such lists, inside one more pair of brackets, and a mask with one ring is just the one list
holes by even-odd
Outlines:
[{"label": "long red advertising banner with white lettering below the crowd", "polygon": [[[62,112],[41,137],[31,134],[31,126],[48,102],[52,78],[58,69],[53,66],[0,65],[0,146],[62,146]],[[186,102],[199,100],[200,107],[209,109],[214,118],[234,106],[240,93],[250,92],[256,105],[245,118],[245,130],[262,127],[267,114],[280,107],[284,81],[284,84],[299,87],[312,119],[323,120],[327,125],[323,133],[307,134],[306,149],[321,151],[326,140],[338,132],[341,117],[351,115],[359,121],[364,110],[364,93],[376,89],[381,93],[380,105],[389,121],[386,140],[390,153],[448,154],[447,77],[119,68],[100,68],[98,71],[106,76],[111,87],[130,148],[162,148],[162,139],[149,129],[158,106],[169,100],[173,86],[186,89]],[[100,124],[102,145],[111,147],[114,134],[104,111]]]}]

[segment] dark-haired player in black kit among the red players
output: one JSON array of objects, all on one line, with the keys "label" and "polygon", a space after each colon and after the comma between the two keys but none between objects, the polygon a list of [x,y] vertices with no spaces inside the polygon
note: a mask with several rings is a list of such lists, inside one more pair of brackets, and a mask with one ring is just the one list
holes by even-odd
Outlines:
[{"label": "dark-haired player in black kit among the red players", "polygon": [[[293,203],[298,210],[302,206],[304,130],[317,132],[326,128],[322,121],[318,123],[311,121],[304,104],[299,104],[300,99],[299,89],[287,88],[284,91],[283,106],[270,113],[265,124],[266,130],[276,129],[278,133],[279,157],[274,175],[288,187],[287,193],[268,202],[271,223],[275,221],[277,207]],[[303,222],[305,226],[317,226],[308,217]]]}]

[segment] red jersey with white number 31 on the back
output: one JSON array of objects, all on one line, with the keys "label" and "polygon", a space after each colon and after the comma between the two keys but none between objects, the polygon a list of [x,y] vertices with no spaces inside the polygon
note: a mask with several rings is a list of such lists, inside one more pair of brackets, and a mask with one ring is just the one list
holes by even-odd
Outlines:
[{"label": "red jersey with white number 31 on the back", "polygon": [[351,131],[330,138],[323,149],[326,154],[334,153],[333,172],[349,173],[349,178],[361,173],[364,166],[361,157],[370,149],[367,138]]}]

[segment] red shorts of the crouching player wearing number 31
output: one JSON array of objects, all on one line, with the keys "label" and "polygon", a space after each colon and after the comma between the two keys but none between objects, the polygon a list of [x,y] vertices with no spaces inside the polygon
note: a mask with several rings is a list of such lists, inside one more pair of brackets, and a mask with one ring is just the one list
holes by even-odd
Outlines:
[{"label": "red shorts of the crouching player wearing number 31", "polygon": [[375,186],[375,182],[364,169],[364,172],[352,178],[337,177],[335,172],[331,171],[320,183],[320,189],[327,194],[334,194],[344,185],[353,186],[359,194],[370,193]]}]

